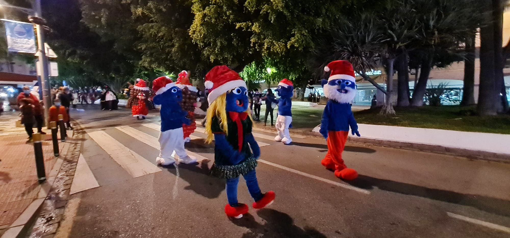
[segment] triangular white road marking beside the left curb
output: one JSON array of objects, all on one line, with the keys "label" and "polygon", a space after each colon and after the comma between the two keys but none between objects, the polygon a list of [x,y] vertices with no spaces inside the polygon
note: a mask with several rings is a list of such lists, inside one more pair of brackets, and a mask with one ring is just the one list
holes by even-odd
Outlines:
[{"label": "triangular white road marking beside the left curb", "polygon": [[99,187],[97,179],[94,177],[90,167],[87,165],[87,161],[85,161],[83,154],[80,154],[69,194],[75,194],[97,187]]}]

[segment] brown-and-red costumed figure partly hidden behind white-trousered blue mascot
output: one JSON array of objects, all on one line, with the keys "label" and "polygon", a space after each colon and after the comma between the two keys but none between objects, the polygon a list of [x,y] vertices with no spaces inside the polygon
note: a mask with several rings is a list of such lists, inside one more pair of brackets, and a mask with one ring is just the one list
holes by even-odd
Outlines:
[{"label": "brown-and-red costumed figure partly hidden behind white-trousered blue mascot", "polygon": [[197,95],[198,89],[191,85],[189,73],[186,70],[179,73],[175,86],[183,90],[183,101],[181,102],[181,106],[184,111],[188,112],[188,118],[191,120],[190,125],[183,124],[184,141],[190,142],[190,135],[196,129],[195,108],[197,107],[197,102],[199,100]]}]

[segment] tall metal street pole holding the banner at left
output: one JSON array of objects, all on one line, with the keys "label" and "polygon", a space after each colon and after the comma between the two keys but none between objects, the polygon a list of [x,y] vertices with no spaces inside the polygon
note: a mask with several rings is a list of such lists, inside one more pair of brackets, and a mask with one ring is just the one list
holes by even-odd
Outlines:
[{"label": "tall metal street pole holding the banner at left", "polygon": [[[34,4],[35,16],[42,17],[41,0],[35,0]],[[39,63],[41,64],[42,101],[44,102],[44,115],[49,115],[49,107],[52,105],[52,86],[49,84],[48,58],[46,57],[46,49],[44,48],[44,30],[41,25],[36,24],[37,46],[39,54]],[[48,117],[45,116],[46,127],[49,129]]]}]

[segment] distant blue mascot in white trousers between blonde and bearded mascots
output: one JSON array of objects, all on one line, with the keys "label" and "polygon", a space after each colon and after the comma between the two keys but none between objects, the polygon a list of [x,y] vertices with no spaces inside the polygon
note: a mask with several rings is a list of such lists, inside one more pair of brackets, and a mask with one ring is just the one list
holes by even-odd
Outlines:
[{"label": "distant blue mascot in white trousers between blonde and bearded mascots", "polygon": [[278,83],[278,116],[276,117],[276,131],[278,135],[274,138],[275,141],[281,141],[288,145],[292,142],[289,134],[289,127],[292,127],[292,95],[294,95],[294,86],[292,81],[284,78]]}]

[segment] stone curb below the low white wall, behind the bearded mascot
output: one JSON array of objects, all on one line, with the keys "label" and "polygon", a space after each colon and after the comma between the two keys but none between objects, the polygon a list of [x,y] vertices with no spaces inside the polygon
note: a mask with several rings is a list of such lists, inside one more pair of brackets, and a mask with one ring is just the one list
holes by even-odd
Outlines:
[{"label": "stone curb below the low white wall, behind the bearded mascot", "polygon": [[[303,134],[308,135],[308,136],[322,138],[322,135],[320,135],[319,133],[314,133],[312,131],[303,131]],[[461,156],[461,157],[466,157],[470,160],[484,160],[484,161],[510,163],[510,154],[503,154],[503,153],[461,149],[461,148],[447,147],[447,146],[442,146],[442,145],[416,144],[416,143],[409,143],[409,142],[376,140],[376,139],[356,138],[356,137],[348,137],[347,141],[354,143],[354,144],[369,144],[369,145],[376,145],[376,146],[382,146],[382,147],[391,147],[391,148],[398,148],[398,149],[405,149],[405,150],[424,151],[424,152],[431,152],[431,153]]]}]

